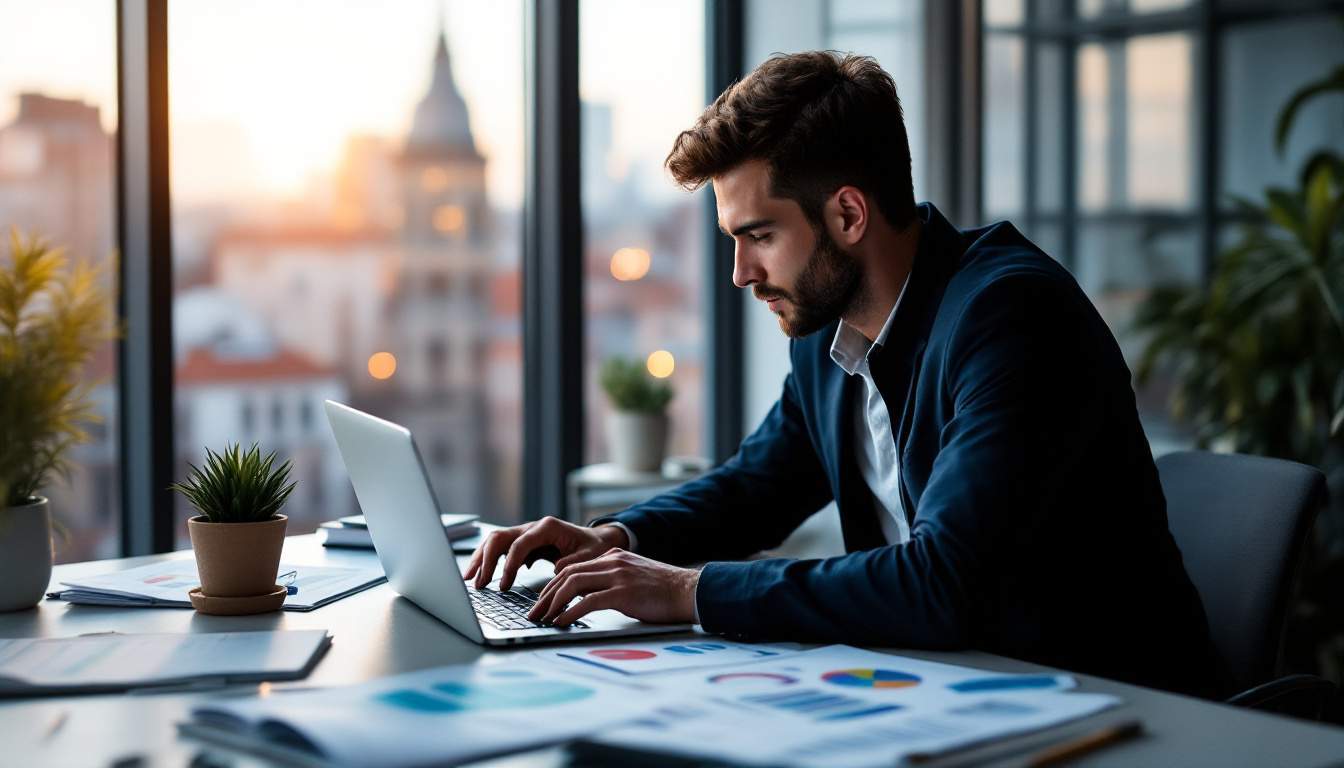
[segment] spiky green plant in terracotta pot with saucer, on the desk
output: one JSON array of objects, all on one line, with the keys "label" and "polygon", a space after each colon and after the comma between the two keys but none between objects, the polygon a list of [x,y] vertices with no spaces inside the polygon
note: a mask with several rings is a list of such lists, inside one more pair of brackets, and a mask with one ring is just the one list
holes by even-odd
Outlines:
[{"label": "spiky green plant in terracotta pot with saucer, on the desk", "polygon": [[255,443],[247,451],[206,448],[204,467],[192,464],[187,482],[171,486],[200,512],[187,521],[200,574],[191,590],[196,611],[263,613],[285,603],[285,588],[276,584],[288,521],[280,510],[294,483],[289,461],[274,463],[276,453],[262,456]]}]

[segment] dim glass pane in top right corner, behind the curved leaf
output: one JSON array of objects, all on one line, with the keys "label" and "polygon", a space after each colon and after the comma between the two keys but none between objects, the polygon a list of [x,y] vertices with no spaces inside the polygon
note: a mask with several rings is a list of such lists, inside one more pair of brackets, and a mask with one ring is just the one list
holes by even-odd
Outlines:
[{"label": "dim glass pane in top right corner, behind the curved leaf", "polygon": [[1306,102],[1284,155],[1274,149],[1274,126],[1289,97],[1340,63],[1344,26],[1332,16],[1246,24],[1223,34],[1223,192],[1257,199],[1267,186],[1297,186],[1297,174],[1313,152],[1344,152],[1344,98],[1339,95]]}]

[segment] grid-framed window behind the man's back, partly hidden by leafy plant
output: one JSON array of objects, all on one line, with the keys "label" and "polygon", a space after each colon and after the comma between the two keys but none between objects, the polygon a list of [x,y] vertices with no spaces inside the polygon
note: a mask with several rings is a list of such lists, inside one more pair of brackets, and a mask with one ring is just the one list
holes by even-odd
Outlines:
[{"label": "grid-framed window behind the man's back, partly hidden by leafy plant", "polygon": [[[1134,309],[1154,285],[1206,280],[1230,196],[1288,182],[1316,147],[1344,149],[1344,108],[1321,100],[1300,120],[1302,141],[1271,151],[1289,94],[1344,50],[1329,5],[984,4],[985,218],[1012,218],[1070,266],[1132,362]],[[1168,424],[1167,387],[1138,391],[1159,451],[1185,440]]]}]

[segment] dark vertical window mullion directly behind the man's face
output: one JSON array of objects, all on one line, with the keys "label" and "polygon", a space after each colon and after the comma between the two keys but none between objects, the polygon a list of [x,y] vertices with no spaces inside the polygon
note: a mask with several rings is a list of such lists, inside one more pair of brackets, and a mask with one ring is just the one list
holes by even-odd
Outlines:
[{"label": "dark vertical window mullion directly behind the man's face", "polygon": [[[743,74],[743,0],[706,0],[706,100],[712,102]],[[742,443],[743,340],[742,292],[732,285],[732,241],[718,226],[714,190],[703,195],[704,288],[707,297],[706,359],[710,408],[704,414],[704,451],[715,463],[732,456]]]}]

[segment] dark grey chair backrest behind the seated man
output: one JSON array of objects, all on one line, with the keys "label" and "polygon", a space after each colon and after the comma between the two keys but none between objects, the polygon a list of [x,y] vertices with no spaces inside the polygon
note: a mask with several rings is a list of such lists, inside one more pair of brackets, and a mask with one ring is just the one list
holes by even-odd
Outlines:
[{"label": "dark grey chair backrest behind the seated man", "polygon": [[1193,451],[1161,456],[1157,472],[1228,693],[1271,679],[1325,476],[1279,459]]}]

